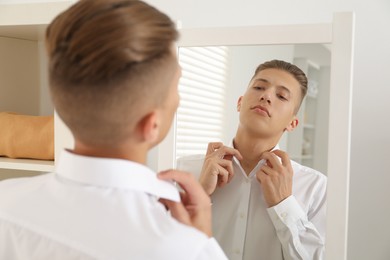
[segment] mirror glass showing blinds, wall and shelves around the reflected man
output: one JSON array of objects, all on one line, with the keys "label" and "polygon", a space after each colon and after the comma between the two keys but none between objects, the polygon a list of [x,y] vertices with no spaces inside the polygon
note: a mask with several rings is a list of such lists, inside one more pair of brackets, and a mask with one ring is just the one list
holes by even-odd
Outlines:
[{"label": "mirror glass showing blinds, wall and shelves around the reflected man", "polygon": [[204,154],[211,141],[229,144],[238,126],[236,104],[255,68],[280,59],[308,76],[301,123],[279,142],[291,159],[327,173],[330,47],[324,44],[180,47],[181,103],[176,122],[176,158]]}]

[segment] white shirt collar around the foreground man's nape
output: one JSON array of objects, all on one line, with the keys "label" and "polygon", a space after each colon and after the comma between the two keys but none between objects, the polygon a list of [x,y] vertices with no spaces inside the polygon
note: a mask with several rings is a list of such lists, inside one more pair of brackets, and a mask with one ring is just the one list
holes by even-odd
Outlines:
[{"label": "white shirt collar around the foreground man's nape", "polygon": [[56,166],[56,174],[81,184],[137,190],[180,201],[173,183],[159,180],[156,173],[145,165],[128,160],[82,156],[64,150]]}]

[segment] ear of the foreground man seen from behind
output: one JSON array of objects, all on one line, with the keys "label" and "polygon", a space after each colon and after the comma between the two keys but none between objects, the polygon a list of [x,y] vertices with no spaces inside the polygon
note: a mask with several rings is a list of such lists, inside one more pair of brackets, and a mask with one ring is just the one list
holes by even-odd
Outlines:
[{"label": "ear of the foreground man seen from behind", "polygon": [[155,143],[159,136],[159,120],[157,111],[145,115],[138,123],[139,134],[142,141]]}]

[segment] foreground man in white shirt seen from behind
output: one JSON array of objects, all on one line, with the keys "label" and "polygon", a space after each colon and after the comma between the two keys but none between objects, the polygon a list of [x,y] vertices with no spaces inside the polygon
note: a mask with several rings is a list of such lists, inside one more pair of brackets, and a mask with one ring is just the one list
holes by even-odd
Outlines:
[{"label": "foreground man in white shirt seen from behind", "polygon": [[136,0],[81,0],[49,25],[50,91],[75,146],[54,173],[0,183],[0,259],[226,259],[196,179],[144,165],[178,106],[177,37]]}]

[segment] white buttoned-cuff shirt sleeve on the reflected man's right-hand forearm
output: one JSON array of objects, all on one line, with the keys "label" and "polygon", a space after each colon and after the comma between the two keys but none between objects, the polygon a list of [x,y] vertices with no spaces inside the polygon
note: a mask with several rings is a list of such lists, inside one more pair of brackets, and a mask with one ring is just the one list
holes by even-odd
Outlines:
[{"label": "white buttoned-cuff shirt sleeve on the reflected man's right-hand forearm", "polygon": [[323,215],[323,223],[316,223],[321,225],[319,228],[308,219],[293,195],[267,211],[282,244],[285,260],[324,258],[325,239],[319,230],[325,230],[325,208],[317,210]]}]

